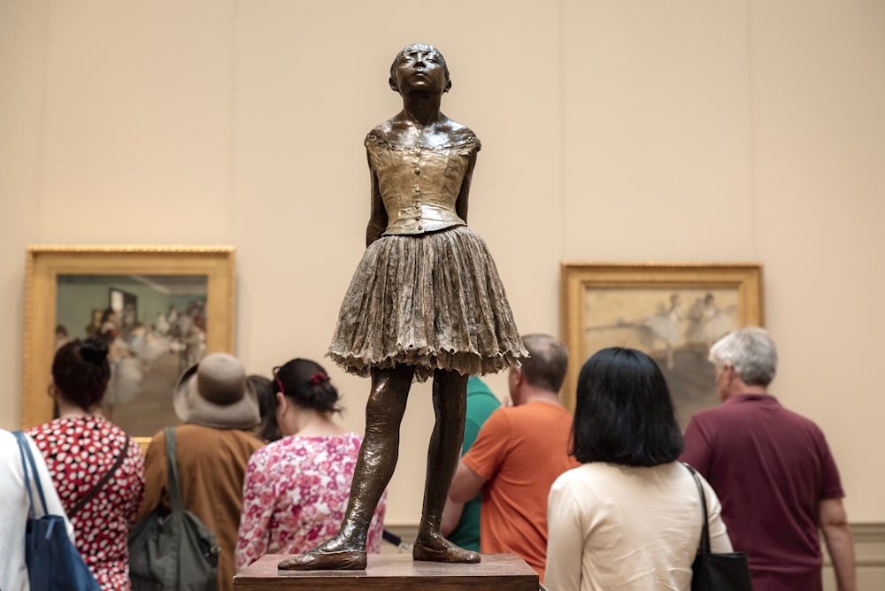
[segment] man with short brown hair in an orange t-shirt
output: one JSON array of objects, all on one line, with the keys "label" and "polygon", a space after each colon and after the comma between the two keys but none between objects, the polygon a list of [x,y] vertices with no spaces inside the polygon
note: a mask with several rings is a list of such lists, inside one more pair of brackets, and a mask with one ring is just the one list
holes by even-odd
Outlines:
[{"label": "man with short brown hair in an orange t-shirt", "polygon": [[512,407],[492,413],[461,458],[449,497],[469,501],[482,491],[482,554],[515,553],[543,581],[547,561],[547,495],[569,457],[572,415],[559,403],[568,350],[549,334],[527,334],[531,357],[508,376]]}]

